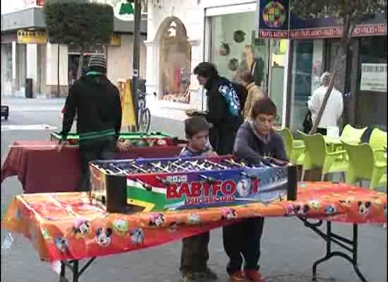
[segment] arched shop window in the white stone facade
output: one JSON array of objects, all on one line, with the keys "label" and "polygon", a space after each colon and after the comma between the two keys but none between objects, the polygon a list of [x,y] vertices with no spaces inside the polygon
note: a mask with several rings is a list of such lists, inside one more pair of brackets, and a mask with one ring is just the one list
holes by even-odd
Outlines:
[{"label": "arched shop window in the white stone facade", "polygon": [[159,45],[158,98],[190,102],[191,45],[185,25],[176,17],[165,18],[157,32]]}]

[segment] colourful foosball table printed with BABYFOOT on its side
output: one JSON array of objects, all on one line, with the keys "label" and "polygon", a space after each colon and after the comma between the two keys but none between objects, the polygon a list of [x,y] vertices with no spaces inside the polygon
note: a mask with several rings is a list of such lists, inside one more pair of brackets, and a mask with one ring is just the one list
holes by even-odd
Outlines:
[{"label": "colourful foosball table printed with BABYFOOT on its side", "polygon": [[234,157],[92,161],[90,196],[107,212],[131,214],[296,200],[296,166]]}]

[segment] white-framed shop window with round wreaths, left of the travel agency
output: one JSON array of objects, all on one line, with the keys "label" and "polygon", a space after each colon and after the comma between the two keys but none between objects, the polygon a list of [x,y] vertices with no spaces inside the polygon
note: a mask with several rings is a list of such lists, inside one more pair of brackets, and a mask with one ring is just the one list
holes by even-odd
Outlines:
[{"label": "white-framed shop window with round wreaths, left of the travel agency", "polygon": [[205,16],[205,61],[214,63],[220,75],[234,82],[241,82],[241,73],[250,71],[256,85],[277,105],[276,125],[281,125],[288,39],[281,36],[257,39],[257,2],[206,8]]}]

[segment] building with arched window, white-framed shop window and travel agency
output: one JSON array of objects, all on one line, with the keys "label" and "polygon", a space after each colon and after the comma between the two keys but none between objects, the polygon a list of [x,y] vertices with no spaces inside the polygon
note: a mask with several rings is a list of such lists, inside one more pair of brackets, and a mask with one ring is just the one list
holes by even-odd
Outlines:
[{"label": "building with arched window, white-framed shop window and travel agency", "polygon": [[[271,22],[268,5],[275,5],[283,16]],[[277,125],[293,130],[302,129],[308,97],[320,86],[320,75],[332,69],[341,36],[338,24],[329,20],[310,23],[293,16],[288,0],[154,0],[148,1],[147,11],[148,92],[205,109],[206,96],[193,76],[198,63],[210,61],[222,76],[236,82],[242,71],[250,70],[277,104]],[[354,34],[341,66],[342,123],[384,127],[387,21],[377,16],[356,27]],[[363,71],[368,66],[382,71],[379,89]]]}]

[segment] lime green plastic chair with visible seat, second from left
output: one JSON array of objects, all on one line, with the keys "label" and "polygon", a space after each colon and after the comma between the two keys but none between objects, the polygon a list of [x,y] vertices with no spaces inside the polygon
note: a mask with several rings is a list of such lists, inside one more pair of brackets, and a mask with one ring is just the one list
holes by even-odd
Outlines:
[{"label": "lime green plastic chair with visible seat, second from left", "polygon": [[344,156],[346,151],[327,152],[325,139],[320,133],[314,135],[306,135],[299,131],[305,142],[305,159],[303,161],[302,178],[305,177],[305,171],[313,168],[321,168],[321,180],[325,179],[327,173],[341,173],[344,176],[348,168],[348,161],[346,158],[339,158]]}]

